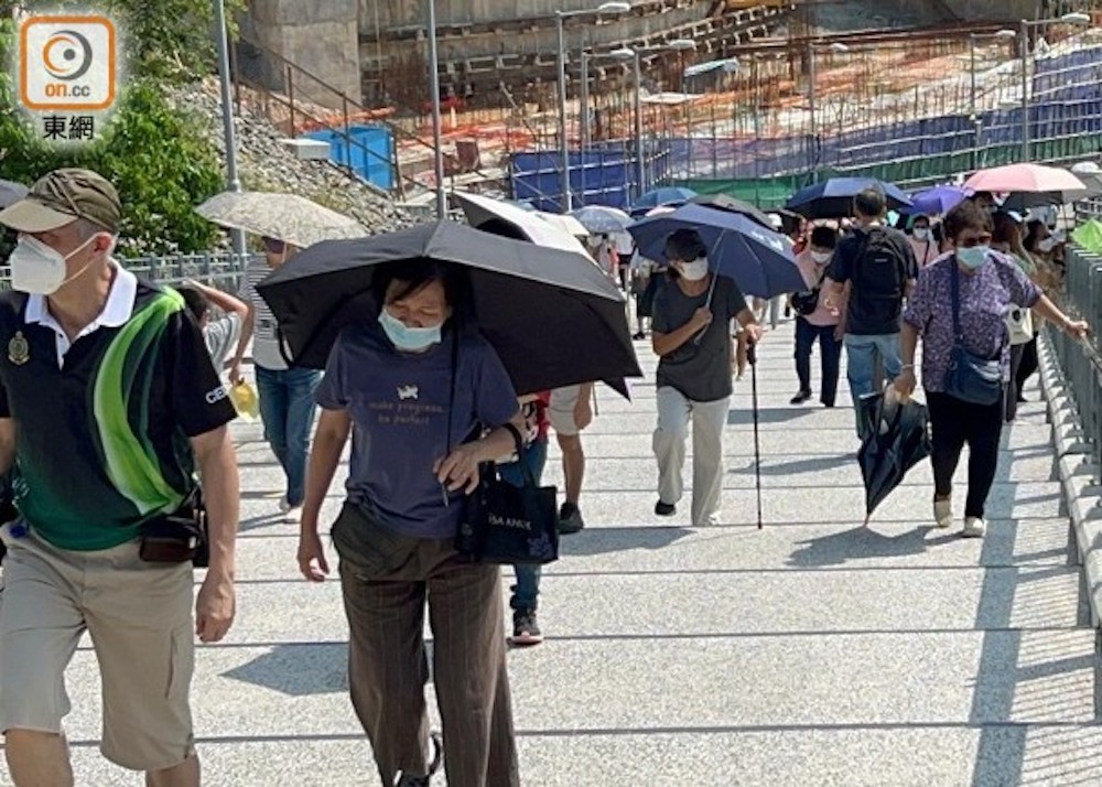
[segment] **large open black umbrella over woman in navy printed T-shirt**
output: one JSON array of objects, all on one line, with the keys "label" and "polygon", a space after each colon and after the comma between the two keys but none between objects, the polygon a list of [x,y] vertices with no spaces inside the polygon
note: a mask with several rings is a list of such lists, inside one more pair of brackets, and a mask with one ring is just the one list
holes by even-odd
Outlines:
[{"label": "large open black umbrella over woman in navy printed T-shirt", "polygon": [[257,291],[271,306],[295,366],[324,368],[337,334],[374,319],[376,266],[433,259],[471,271],[478,327],[517,394],[602,380],[627,396],[641,377],[624,297],[579,255],[452,222],[352,240],[326,240],[291,258]]}]

